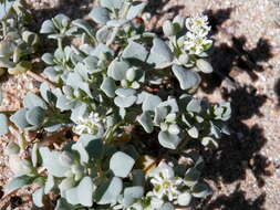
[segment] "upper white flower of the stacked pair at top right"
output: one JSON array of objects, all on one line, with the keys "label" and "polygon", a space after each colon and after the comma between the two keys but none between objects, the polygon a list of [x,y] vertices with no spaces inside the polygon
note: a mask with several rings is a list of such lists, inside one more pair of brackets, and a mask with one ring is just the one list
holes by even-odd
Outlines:
[{"label": "upper white flower of the stacked pair at top right", "polygon": [[210,27],[208,25],[208,17],[203,14],[197,14],[195,17],[190,17],[186,19],[186,28],[199,35],[199,36],[206,36],[209,31]]}]

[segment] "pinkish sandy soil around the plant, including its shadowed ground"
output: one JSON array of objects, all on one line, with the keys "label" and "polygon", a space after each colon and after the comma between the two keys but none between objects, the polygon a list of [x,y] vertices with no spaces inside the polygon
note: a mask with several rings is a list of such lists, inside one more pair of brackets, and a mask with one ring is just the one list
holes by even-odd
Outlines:
[{"label": "pinkish sandy soil around the plant, including its shadowed ground", "polygon": [[[91,0],[28,0],[34,29],[56,13],[84,18]],[[160,33],[164,20],[176,14],[209,15],[215,46],[215,73],[204,76],[198,97],[230,101],[231,135],[216,151],[203,151],[204,177],[214,195],[197,202],[197,210],[280,210],[280,1],[279,0],[149,0],[148,29]],[[37,88],[29,75],[2,78],[4,104],[17,109],[29,90]],[[12,176],[3,148],[12,135],[0,139],[0,187]],[[34,209],[30,189],[0,201],[0,209]],[[0,188],[0,199],[1,199]],[[7,200],[8,199],[8,200]],[[6,204],[6,207],[4,207]]]}]

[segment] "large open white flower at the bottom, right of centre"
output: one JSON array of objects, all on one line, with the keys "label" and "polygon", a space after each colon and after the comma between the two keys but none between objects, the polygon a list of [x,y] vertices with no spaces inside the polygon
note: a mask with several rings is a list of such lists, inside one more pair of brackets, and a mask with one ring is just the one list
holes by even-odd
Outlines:
[{"label": "large open white flower at the bottom, right of centre", "polygon": [[174,170],[170,166],[162,162],[157,168],[149,174],[152,185],[154,186],[153,193],[163,199],[167,197],[169,201],[176,199],[179,195],[177,187],[182,183],[182,179],[175,177]]}]

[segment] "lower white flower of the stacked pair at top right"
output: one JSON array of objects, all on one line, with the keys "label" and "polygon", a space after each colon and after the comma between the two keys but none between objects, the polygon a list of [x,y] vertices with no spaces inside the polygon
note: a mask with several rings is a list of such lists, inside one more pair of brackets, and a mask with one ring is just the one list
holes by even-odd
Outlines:
[{"label": "lower white flower of the stacked pair at top right", "polygon": [[196,35],[195,33],[187,32],[184,49],[188,51],[189,54],[201,54],[204,51],[208,50],[212,44],[211,40],[205,36]]}]

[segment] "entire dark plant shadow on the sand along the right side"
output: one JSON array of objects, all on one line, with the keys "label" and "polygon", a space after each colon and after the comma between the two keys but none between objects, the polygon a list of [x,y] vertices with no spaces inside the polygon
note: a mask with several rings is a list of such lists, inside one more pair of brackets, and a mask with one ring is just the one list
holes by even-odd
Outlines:
[{"label": "entire dark plant shadow on the sand along the right side", "polygon": [[[205,12],[209,15],[212,34],[227,33],[222,31],[225,29],[220,24],[230,18],[231,11],[227,9]],[[232,186],[242,180],[246,180],[246,185],[248,185],[247,180],[250,178],[247,174],[250,172],[255,177],[258,188],[262,188],[266,185],[266,177],[271,176],[272,172],[270,161],[261,153],[267,144],[265,130],[258,122],[253,120],[253,117],[261,118],[263,116],[261,106],[268,96],[259,94],[253,83],[250,85],[239,84],[235,76],[246,72],[251,81],[256,82],[259,78],[259,73],[265,71],[260,62],[267,62],[272,57],[271,45],[268,40],[259,39],[256,48],[246,50],[246,36],[226,35],[231,41],[231,45],[220,43],[214,46],[210,52],[210,62],[215,72],[204,75],[204,85],[206,85],[201,90],[206,94],[211,94],[216,88],[220,88],[222,98],[231,103],[232,117],[229,122],[231,135],[225,136],[219,141],[218,150],[203,151],[206,161],[204,177],[212,180],[216,186]],[[226,85],[221,85],[224,81],[227,83]],[[274,91],[279,93],[280,104],[280,80]],[[198,209],[263,210],[266,193],[251,200],[245,196],[249,191],[242,190],[238,187],[229,196],[212,197]]]}]

